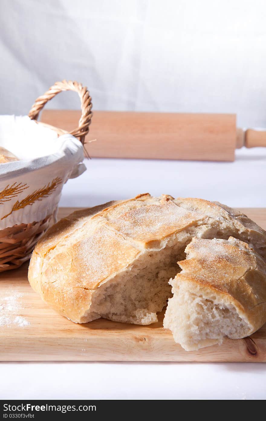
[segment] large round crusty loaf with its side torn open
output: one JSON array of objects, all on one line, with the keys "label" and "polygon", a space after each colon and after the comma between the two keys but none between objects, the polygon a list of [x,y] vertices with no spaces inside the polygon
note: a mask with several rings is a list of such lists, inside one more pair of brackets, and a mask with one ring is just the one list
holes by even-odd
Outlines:
[{"label": "large round crusty loaf with its side torn open", "polygon": [[[172,297],[169,279],[180,272],[177,261],[184,264],[185,249],[194,237],[223,240],[234,237],[241,240],[241,245],[239,242],[235,247],[253,250],[253,260],[266,258],[266,232],[239,211],[202,199],[143,194],[79,210],[61,219],[35,247],[29,282],[47,303],[74,322],[104,317],[150,324],[157,321],[156,313]],[[204,244],[207,243],[203,243],[203,248]],[[226,250],[229,256],[229,249]],[[231,282],[231,272],[224,273],[227,266],[216,267],[210,261],[210,270],[212,267]],[[264,274],[254,276],[257,275],[258,282],[263,279],[261,290],[253,291],[253,285],[250,288],[259,303],[265,299],[266,285]],[[232,285],[234,282],[232,277]],[[209,280],[208,285],[216,288]],[[246,311],[240,297],[247,295],[246,287],[220,293],[225,294],[226,302],[231,300],[232,306],[239,302],[243,312]],[[249,299],[251,295],[247,302]],[[258,316],[254,328],[266,321],[265,308],[260,311],[263,316]],[[167,327],[174,331],[171,322]]]}]

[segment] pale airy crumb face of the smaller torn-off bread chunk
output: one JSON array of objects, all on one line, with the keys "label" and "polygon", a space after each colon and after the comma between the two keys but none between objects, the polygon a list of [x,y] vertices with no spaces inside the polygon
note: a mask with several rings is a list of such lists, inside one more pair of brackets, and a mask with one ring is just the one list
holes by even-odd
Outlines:
[{"label": "pale airy crumb face of the smaller torn-off bread chunk", "polygon": [[215,294],[204,296],[202,288],[192,293],[187,282],[174,285],[174,296],[169,300],[163,326],[172,331],[174,340],[186,351],[221,344],[224,337],[241,338],[250,331],[232,304],[221,303]]}]

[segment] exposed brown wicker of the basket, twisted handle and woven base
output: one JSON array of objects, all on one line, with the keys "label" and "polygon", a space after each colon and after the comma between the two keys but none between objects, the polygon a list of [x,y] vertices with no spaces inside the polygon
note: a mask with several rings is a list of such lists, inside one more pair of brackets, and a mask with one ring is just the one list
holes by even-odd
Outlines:
[{"label": "exposed brown wicker of the basket, twisted handle and woven base", "polygon": [[[44,95],[36,99],[29,112],[29,117],[31,120],[37,120],[41,109],[47,101],[50,101],[50,99],[61,91],[75,91],[80,97],[82,115],[78,127],[71,131],[70,134],[78,138],[82,145],[84,145],[84,139],[89,131],[89,125],[92,118],[92,103],[87,88],[82,87],[80,83],[66,80],[56,82]],[[69,133],[44,123],[37,122],[37,124],[56,131],[58,136]],[[57,208],[41,221],[34,221],[27,224],[22,223],[21,221],[21,224],[16,224],[0,230],[0,272],[16,269],[21,266],[24,261],[30,258],[32,250],[39,238],[44,234],[47,228],[55,222],[56,211]]]}]

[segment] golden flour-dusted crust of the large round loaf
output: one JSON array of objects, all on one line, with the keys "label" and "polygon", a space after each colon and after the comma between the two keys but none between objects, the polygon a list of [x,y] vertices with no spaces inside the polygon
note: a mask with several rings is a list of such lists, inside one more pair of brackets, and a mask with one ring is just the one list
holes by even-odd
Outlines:
[{"label": "golden flour-dusted crust of the large round loaf", "polygon": [[58,312],[79,322],[95,290],[134,265],[144,250],[161,250],[176,233],[199,226],[208,232],[212,225],[221,225],[222,230],[225,221],[231,234],[247,238],[265,252],[263,229],[236,210],[202,199],[174,200],[145,193],[79,210],[52,226],[38,242],[29,282]]}]

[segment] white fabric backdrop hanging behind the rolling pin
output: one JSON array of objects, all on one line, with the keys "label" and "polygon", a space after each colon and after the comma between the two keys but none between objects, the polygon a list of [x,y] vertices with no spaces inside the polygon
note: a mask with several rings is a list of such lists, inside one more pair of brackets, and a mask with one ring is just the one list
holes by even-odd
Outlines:
[{"label": "white fabric backdrop hanging behind the rolling pin", "polygon": [[94,109],[235,112],[265,127],[265,18],[264,0],[1,0],[0,114],[27,114],[66,78]]}]

